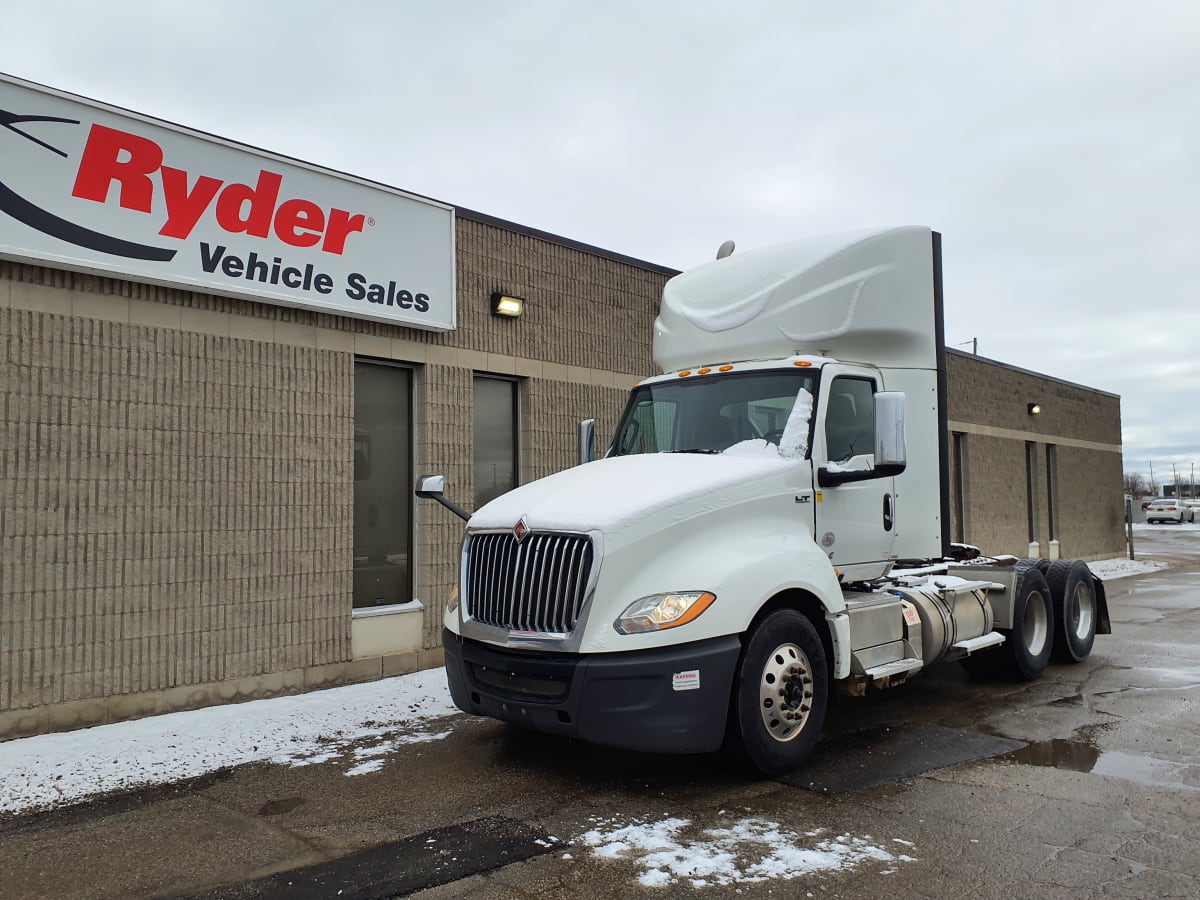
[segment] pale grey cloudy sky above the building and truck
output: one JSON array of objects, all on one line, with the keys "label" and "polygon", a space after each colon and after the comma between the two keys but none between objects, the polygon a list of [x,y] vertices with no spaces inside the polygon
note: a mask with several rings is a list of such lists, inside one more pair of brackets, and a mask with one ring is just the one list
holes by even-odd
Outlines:
[{"label": "pale grey cloudy sky above the building and truck", "polygon": [[0,71],[674,268],[943,234],[947,343],[1200,463],[1200,5],[7,0]]}]

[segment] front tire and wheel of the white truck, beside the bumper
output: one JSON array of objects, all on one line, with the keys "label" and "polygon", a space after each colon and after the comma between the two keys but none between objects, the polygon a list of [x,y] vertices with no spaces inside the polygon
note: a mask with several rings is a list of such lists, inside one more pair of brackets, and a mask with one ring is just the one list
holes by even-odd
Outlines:
[{"label": "front tire and wheel of the white truck, beside the bumper", "polygon": [[744,764],[781,775],[809,758],[829,704],[829,670],[806,616],[776,610],[750,632],[732,704],[730,745]]}]

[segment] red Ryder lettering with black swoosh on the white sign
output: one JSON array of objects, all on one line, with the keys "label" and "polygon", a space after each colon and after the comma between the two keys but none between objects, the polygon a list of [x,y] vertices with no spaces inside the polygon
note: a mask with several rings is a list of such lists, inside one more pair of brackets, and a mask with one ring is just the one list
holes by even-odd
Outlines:
[{"label": "red Ryder lettering with black swoosh on the white sign", "polygon": [[[80,124],[78,119],[18,115],[0,109],[0,126],[67,158],[59,148],[17,127],[35,122]],[[175,240],[191,236],[211,211],[216,224],[228,234],[264,239],[274,235],[293,247],[319,246],[325,253],[341,256],[347,239],[361,233],[366,224],[366,216],[360,212],[325,209],[302,198],[280,202],[282,190],[283,176],[269,169],[259,169],[253,186],[204,174],[193,178],[186,169],[166,164],[162,146],[150,138],[94,124],[71,194],[100,204],[115,196],[122,209],[146,215],[155,215],[158,199],[158,210],[164,209],[166,217],[157,233]],[[0,181],[0,211],[43,234],[112,256],[169,262],[176,253],[170,246],[138,244],[85,228],[37,206],[4,181]]]}]

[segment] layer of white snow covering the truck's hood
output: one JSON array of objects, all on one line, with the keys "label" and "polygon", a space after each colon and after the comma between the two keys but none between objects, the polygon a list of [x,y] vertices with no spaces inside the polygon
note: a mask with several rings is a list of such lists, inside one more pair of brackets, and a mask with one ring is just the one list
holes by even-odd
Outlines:
[{"label": "layer of white snow covering the truck's hood", "polygon": [[522,485],[470,517],[470,528],[614,532],[671,506],[794,467],[774,444],[746,440],[724,454],[642,454],[596,460]]}]

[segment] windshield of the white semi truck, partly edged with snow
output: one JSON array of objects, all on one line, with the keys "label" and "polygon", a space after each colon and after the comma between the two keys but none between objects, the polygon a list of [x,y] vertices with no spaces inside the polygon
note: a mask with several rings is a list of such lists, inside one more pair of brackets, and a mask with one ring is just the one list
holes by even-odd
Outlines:
[{"label": "windshield of the white semi truck, partly edged with snow", "polygon": [[800,391],[805,416],[811,410],[816,378],[816,370],[797,368],[643,384],[629,398],[608,455],[719,454],[756,438],[778,445]]}]

